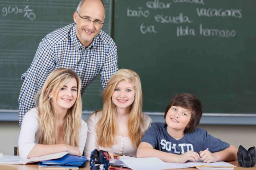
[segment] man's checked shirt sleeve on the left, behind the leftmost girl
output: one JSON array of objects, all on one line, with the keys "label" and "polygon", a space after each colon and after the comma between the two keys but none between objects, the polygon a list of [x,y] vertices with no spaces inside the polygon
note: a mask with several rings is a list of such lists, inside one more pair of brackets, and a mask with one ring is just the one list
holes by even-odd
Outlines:
[{"label": "man's checked shirt sleeve on the left, behind the leftmost girl", "polygon": [[48,44],[47,39],[44,38],[38,46],[36,56],[30,68],[21,76],[24,82],[18,98],[20,126],[27,110],[35,107],[35,94],[40,90],[46,77],[54,69],[54,58],[53,46]]}]

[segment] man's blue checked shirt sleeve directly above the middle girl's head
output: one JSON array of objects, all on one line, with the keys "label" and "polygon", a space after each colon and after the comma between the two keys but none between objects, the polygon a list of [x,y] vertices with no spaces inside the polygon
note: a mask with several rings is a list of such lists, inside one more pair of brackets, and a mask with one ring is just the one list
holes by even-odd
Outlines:
[{"label": "man's blue checked shirt sleeve directly above the middle girl's head", "polygon": [[110,77],[118,70],[117,65],[117,46],[113,42],[101,69],[102,90],[106,88]]}]

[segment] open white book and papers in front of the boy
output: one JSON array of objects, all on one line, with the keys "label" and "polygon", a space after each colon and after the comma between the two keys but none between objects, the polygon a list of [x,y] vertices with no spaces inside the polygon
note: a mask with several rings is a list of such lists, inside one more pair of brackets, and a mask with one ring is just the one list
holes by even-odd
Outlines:
[{"label": "open white book and papers in front of the boy", "polygon": [[169,163],[161,161],[156,157],[148,158],[133,158],[129,156],[120,156],[119,160],[111,160],[110,164],[128,167],[133,170],[163,170],[163,169],[178,169],[196,167],[197,169],[234,169],[234,165],[224,161],[214,163],[199,162],[186,162],[186,163]]}]

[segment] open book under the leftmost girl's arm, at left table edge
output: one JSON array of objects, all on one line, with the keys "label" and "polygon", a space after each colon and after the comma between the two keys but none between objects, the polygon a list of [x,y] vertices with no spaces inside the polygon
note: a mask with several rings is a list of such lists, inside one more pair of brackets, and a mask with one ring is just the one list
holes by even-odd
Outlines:
[{"label": "open book under the leftmost girl's arm, at left table edge", "polygon": [[0,164],[27,164],[38,161],[46,161],[61,158],[64,155],[68,154],[68,152],[60,152],[60,153],[52,153],[44,156],[38,156],[29,159],[22,159],[20,156],[0,156]]}]

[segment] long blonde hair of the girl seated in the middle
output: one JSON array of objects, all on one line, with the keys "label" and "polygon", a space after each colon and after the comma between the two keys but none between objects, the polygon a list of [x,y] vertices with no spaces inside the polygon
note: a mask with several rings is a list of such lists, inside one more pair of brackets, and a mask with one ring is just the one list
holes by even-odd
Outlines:
[{"label": "long blonde hair of the girl seated in the middle", "polygon": [[120,69],[110,77],[108,85],[103,91],[102,117],[96,125],[98,144],[102,147],[111,147],[117,136],[117,110],[111,98],[117,84],[122,80],[133,83],[135,91],[135,99],[131,105],[128,118],[129,137],[133,147],[137,148],[141,140],[142,131],[140,125],[144,127],[144,121],[142,119],[142,90],[140,78],[136,72],[130,69]]}]

